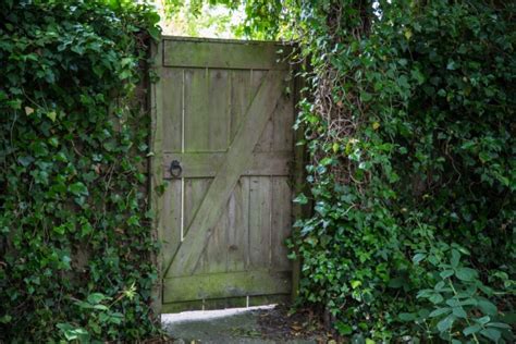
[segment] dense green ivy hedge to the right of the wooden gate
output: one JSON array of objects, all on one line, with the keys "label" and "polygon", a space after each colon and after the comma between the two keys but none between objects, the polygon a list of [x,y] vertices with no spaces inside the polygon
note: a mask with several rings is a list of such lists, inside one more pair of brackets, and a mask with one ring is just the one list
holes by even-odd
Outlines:
[{"label": "dense green ivy hedge to the right of the wooden gate", "polygon": [[514,341],[515,3],[285,3],[311,66],[299,302],[358,342]]}]

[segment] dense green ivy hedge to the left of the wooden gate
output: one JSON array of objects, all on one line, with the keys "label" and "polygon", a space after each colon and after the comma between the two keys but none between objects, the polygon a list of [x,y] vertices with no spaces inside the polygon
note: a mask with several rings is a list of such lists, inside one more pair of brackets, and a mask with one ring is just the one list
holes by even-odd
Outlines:
[{"label": "dense green ivy hedge to the left of the wooden gate", "polygon": [[143,3],[0,1],[0,342],[155,331]]}]

